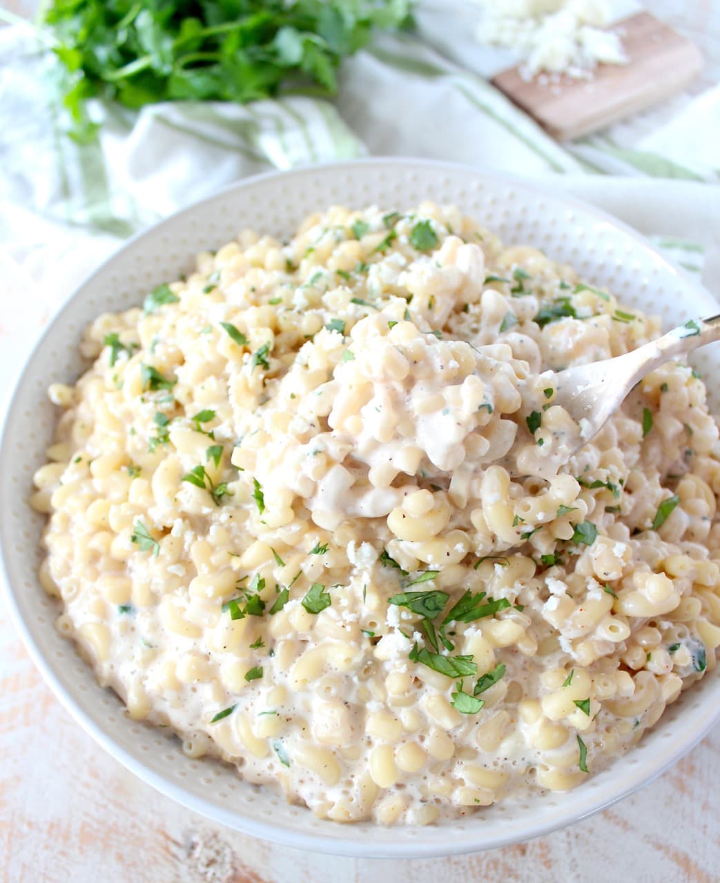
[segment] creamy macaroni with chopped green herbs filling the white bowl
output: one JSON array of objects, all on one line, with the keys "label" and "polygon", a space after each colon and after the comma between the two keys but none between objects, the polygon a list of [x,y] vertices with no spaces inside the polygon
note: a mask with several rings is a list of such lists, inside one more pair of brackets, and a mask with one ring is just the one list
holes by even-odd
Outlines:
[{"label": "creamy macaroni with chopped green herbs filling the white bowl", "polygon": [[57,628],[133,718],[323,818],[573,788],[720,645],[701,379],[658,368],[552,466],[554,371],[659,329],[455,208],[245,230],[49,389]]}]

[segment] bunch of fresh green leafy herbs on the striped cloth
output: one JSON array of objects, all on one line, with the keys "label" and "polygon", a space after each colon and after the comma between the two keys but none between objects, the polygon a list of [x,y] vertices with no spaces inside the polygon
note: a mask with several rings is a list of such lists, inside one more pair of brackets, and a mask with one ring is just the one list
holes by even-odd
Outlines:
[{"label": "bunch of fresh green leafy herbs on the striped cloth", "polygon": [[51,0],[74,136],[89,98],[250,102],[283,87],[333,94],[337,67],[375,29],[411,24],[412,0]]}]

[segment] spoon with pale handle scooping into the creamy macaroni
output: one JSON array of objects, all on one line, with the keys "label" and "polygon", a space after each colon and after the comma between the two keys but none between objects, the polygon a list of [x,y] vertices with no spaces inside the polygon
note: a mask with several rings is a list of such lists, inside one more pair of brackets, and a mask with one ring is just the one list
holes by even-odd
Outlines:
[{"label": "spoon with pale handle scooping into the creamy macaroni", "polygon": [[646,374],[673,358],[685,356],[716,340],[720,340],[720,314],[709,319],[691,319],[622,356],[558,372],[553,404],[565,408],[577,423],[583,421],[580,424],[581,437],[565,448],[564,458],[572,457],[600,432],[625,396]]}]

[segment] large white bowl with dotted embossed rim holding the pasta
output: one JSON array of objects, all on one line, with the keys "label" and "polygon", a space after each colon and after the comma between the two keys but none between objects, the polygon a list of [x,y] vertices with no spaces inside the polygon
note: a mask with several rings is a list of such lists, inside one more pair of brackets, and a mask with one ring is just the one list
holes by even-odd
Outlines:
[{"label": "large white bowl with dotted embossed rim holding the pasta", "polygon": [[[666,327],[717,312],[716,302],[633,230],[580,202],[557,198],[510,178],[443,162],[375,159],[249,178],[173,215],[125,245],[92,275],[50,325],[23,372],[0,447],[0,551],[6,600],[27,649],[57,698],[80,726],[150,785],[201,814],[267,840],[345,856],[428,857],[474,852],[528,840],[618,801],[671,766],[704,736],[720,710],[720,667],[664,713],[624,757],[567,794],[528,794],[437,826],[383,828],[316,819],[288,806],[272,789],[239,779],[231,766],[191,760],[162,729],[131,721],[117,696],[102,690],[73,645],[53,627],[57,601],[38,582],[44,519],[27,505],[34,470],[57,418],[45,390],[84,370],[81,329],[99,313],[139,304],[156,284],[176,279],[193,256],[244,227],[289,234],[307,214],[343,203],[407,208],[425,199],[458,205],[508,243],[531,243],[567,260],[625,303],[662,313]],[[694,360],[720,374],[717,346]],[[718,385],[711,387],[720,412]],[[79,761],[82,762],[81,759]]]}]

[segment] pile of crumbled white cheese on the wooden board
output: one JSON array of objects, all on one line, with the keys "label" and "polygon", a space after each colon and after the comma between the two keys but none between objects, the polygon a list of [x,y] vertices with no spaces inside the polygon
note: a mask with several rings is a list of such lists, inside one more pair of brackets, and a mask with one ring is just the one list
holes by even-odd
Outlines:
[{"label": "pile of crumbled white cheese on the wooden board", "polygon": [[475,2],[484,8],[478,41],[519,51],[527,79],[541,71],[587,79],[598,63],[627,64],[618,34],[601,29],[610,20],[605,0]]}]

